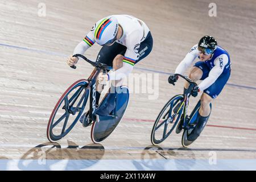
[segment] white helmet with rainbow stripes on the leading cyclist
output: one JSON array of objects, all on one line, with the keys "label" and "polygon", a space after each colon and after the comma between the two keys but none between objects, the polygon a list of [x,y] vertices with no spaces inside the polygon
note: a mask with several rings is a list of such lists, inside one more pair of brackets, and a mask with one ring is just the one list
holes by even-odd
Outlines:
[{"label": "white helmet with rainbow stripes on the leading cyclist", "polygon": [[109,46],[117,40],[118,20],[108,16],[99,20],[95,25],[94,39],[101,46]]}]

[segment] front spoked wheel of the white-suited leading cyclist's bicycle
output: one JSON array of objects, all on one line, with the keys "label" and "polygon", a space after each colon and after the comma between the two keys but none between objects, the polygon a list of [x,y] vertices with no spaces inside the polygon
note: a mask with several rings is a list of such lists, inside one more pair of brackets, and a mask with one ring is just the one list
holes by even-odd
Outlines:
[{"label": "front spoked wheel of the white-suited leading cyclist's bicycle", "polygon": [[76,125],[88,100],[87,85],[87,80],[78,80],[60,97],[47,126],[47,138],[50,142],[57,142]]}]

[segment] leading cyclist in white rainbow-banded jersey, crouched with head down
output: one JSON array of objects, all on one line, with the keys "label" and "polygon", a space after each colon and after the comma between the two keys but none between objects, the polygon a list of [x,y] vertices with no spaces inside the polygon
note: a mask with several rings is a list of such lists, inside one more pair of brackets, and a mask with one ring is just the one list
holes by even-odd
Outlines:
[{"label": "leading cyclist in white rainbow-banded jersey, crouched with head down", "polygon": [[[98,115],[107,115],[115,107],[114,98],[121,89],[122,80],[133,71],[133,67],[140,60],[146,57],[152,50],[153,39],[146,23],[130,15],[110,15],[99,20],[80,42],[73,55],[84,52],[94,43],[101,46],[97,61],[113,66],[114,72],[98,76],[98,84],[105,84],[106,81],[115,82],[114,93],[109,93],[105,103],[96,111]],[[75,65],[79,59],[69,56],[69,66]],[[101,86],[97,86],[96,104],[100,98]]]}]

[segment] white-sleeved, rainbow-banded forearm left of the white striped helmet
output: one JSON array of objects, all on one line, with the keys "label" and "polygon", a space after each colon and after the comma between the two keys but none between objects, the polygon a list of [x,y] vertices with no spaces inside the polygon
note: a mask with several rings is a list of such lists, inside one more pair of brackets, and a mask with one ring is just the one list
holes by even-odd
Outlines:
[{"label": "white-sleeved, rainbow-banded forearm left of the white striped helmet", "polygon": [[83,55],[84,52],[90,48],[95,43],[93,32],[90,31],[85,38],[77,44],[75,50],[73,51],[73,55],[79,53],[80,55]]}]

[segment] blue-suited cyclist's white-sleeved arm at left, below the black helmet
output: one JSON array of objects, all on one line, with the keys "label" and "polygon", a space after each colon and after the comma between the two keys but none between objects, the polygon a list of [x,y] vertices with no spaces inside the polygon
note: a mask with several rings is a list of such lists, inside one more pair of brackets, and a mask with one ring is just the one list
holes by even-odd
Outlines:
[{"label": "blue-suited cyclist's white-sleeved arm at left, below the black helmet", "polygon": [[184,57],[184,59],[180,62],[180,64],[177,66],[175,73],[179,73],[183,75],[183,73],[186,71],[188,67],[190,67],[193,63],[193,61],[198,56],[198,49],[197,44],[191,48],[191,51],[187,53],[187,55]]}]

